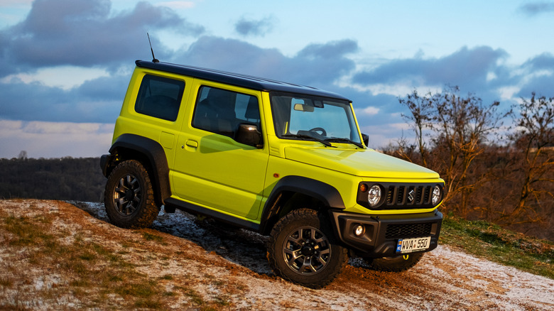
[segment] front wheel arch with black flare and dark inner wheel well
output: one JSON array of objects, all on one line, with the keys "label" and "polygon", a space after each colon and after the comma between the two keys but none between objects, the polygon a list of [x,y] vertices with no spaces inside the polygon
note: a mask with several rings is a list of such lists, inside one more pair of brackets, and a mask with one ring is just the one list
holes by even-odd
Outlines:
[{"label": "front wheel arch with black flare and dark inner wheel well", "polygon": [[[344,209],[340,192],[332,185],[303,176],[286,176],[277,182],[266,201],[261,217],[260,233],[269,234],[273,225],[283,216],[283,212],[306,207],[304,205],[291,207],[289,202],[303,202],[310,199],[313,203],[319,202],[319,207],[324,209]],[[316,205],[311,204],[310,207],[317,209]]]}]

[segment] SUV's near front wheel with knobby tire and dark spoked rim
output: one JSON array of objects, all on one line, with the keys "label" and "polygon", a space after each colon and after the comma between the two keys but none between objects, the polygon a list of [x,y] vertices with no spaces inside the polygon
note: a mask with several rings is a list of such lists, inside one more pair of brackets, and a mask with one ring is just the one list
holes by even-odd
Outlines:
[{"label": "SUV's near front wheel with knobby tire and dark spoked rim", "polygon": [[348,261],[329,219],[313,209],[296,209],[275,224],[267,258],[278,276],[308,288],[325,287]]}]

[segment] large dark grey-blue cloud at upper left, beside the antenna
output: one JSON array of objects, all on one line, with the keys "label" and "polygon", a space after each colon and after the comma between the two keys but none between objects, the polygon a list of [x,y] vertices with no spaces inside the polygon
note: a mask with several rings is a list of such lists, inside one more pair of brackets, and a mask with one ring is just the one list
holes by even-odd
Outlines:
[{"label": "large dark grey-blue cloud at upper left, beside the antenna", "polygon": [[148,53],[147,31],[173,29],[192,36],[204,31],[165,6],[139,2],[130,11],[112,13],[111,4],[109,0],[33,2],[24,21],[0,32],[0,59],[15,64],[0,69],[0,77],[55,65],[109,66]]}]

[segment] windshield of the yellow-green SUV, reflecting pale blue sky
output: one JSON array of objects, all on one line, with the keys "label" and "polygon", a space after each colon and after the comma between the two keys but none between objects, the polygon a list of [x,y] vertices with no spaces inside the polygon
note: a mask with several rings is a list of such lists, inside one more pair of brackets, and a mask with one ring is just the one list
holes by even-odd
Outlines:
[{"label": "windshield of the yellow-green SUV, reflecting pale blue sky", "polygon": [[362,142],[347,101],[272,93],[271,109],[275,131],[280,138],[313,137],[314,140]]}]

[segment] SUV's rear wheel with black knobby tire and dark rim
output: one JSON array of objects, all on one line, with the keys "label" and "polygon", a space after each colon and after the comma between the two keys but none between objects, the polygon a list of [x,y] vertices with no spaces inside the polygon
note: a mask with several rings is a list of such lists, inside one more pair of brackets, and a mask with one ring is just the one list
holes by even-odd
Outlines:
[{"label": "SUV's rear wheel with black knobby tire and dark rim", "polygon": [[104,206],[110,222],[121,228],[146,228],[158,217],[150,176],[139,161],[126,160],[112,170]]}]

